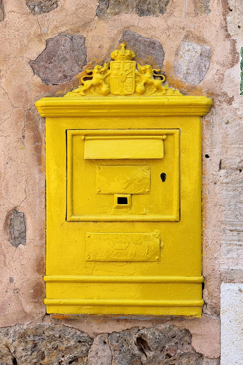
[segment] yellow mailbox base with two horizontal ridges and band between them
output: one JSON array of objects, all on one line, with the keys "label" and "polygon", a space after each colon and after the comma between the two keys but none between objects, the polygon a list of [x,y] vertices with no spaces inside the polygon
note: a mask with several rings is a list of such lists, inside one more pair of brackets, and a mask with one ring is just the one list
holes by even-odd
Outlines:
[{"label": "yellow mailbox base with two horizontal ridges and band between them", "polygon": [[202,276],[53,275],[44,280],[47,313],[200,315],[204,303]]}]

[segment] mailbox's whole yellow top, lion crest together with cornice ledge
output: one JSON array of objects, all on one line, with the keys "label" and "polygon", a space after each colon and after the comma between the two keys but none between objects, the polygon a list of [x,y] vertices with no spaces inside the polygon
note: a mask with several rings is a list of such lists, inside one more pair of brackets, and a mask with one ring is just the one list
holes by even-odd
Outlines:
[{"label": "mailbox's whole yellow top, lion crest together with cornice ledge", "polygon": [[133,60],[135,53],[120,48],[111,53],[110,64],[87,69],[82,85],[63,97],[36,101],[43,117],[78,116],[203,116],[212,100],[205,96],[184,96],[163,85],[165,76],[151,65]]}]

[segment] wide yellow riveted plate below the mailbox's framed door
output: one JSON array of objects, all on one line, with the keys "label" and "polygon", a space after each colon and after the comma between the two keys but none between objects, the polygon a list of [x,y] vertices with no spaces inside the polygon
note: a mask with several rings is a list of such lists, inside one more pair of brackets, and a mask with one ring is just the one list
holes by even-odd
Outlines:
[{"label": "wide yellow riveted plate below the mailbox's framed door", "polygon": [[87,232],[86,261],[160,261],[160,234]]}]

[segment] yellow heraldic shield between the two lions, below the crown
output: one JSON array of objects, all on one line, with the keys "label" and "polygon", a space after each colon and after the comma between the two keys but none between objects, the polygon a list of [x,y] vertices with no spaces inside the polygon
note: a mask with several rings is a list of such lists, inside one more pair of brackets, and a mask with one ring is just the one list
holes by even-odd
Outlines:
[{"label": "yellow heraldic shield between the two lions, below the crown", "polygon": [[129,95],[135,91],[135,62],[110,62],[110,91],[115,95]]}]

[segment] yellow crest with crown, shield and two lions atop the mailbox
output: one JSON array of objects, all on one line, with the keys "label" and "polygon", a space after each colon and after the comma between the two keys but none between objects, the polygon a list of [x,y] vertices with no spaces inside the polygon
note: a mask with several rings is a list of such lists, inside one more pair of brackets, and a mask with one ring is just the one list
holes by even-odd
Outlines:
[{"label": "yellow crest with crown, shield and two lions atop the mailbox", "polygon": [[178,90],[163,85],[165,76],[159,74],[160,69],[153,69],[151,65],[141,66],[133,61],[135,53],[125,49],[125,44],[120,49],[111,52],[110,68],[96,65],[93,70],[86,70],[83,76],[83,85],[65,97],[91,96],[91,95],[181,95]]}]

